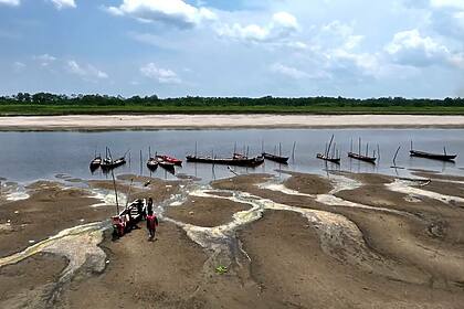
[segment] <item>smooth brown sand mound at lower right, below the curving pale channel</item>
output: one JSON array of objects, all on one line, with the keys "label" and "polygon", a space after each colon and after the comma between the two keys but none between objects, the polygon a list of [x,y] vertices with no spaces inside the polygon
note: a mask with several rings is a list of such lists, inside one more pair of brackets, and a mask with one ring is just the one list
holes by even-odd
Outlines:
[{"label": "smooth brown sand mound at lower right, below the curving pale channel", "polygon": [[251,258],[252,278],[262,288],[261,298],[276,308],[310,303],[314,308],[457,309],[464,299],[457,290],[390,280],[327,257],[316,232],[295,213],[266,212],[239,237]]}]

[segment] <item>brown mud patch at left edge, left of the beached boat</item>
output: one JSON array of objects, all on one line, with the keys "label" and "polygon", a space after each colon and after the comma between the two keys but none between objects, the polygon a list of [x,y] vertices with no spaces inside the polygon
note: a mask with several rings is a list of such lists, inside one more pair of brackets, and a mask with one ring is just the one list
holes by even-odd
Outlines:
[{"label": "brown mud patch at left edge, left of the beached boat", "polygon": [[[82,189],[41,181],[29,185],[31,196],[0,207],[0,223],[11,231],[0,233],[0,257],[20,252],[64,228],[108,217],[109,209],[92,209],[98,202]],[[113,210],[113,209],[112,209]],[[4,221],[4,222],[3,222]]]}]

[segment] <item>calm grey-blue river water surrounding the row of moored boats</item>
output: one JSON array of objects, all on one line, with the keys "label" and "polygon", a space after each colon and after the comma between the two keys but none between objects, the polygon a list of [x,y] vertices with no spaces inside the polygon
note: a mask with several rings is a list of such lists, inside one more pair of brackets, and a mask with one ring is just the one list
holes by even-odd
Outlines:
[{"label": "calm grey-blue river water surrounding the row of moored boats", "polygon": [[[325,149],[326,142],[335,134],[337,148],[341,151],[340,167],[316,159],[316,153]],[[276,169],[323,173],[326,169],[340,169],[352,172],[394,173],[391,169],[392,158],[399,146],[401,151],[397,166],[408,169],[428,169],[445,173],[460,174],[458,156],[455,163],[410,158],[410,141],[414,148],[425,151],[441,152],[446,146],[449,153],[464,156],[464,130],[461,129],[243,129],[243,130],[158,130],[158,131],[107,131],[107,132],[0,132],[0,177],[13,181],[33,181],[53,179],[56,174],[68,174],[82,179],[106,179],[101,170],[91,174],[88,164],[94,152],[105,154],[109,147],[113,157],[127,156],[127,164],[116,170],[116,174],[136,173],[162,179],[176,179],[168,171],[158,168],[150,172],[146,167],[148,149],[151,152],[167,153],[180,159],[193,153],[196,142],[198,154],[230,157],[236,148],[240,152],[249,151],[250,156],[261,153],[262,147],[267,152],[289,156],[289,164],[266,161],[256,169],[234,168],[238,173],[273,172]],[[351,139],[362,138],[369,142],[369,149],[380,149],[379,163],[369,163],[348,159]],[[296,143],[292,156],[293,145]],[[366,146],[365,146],[366,147]],[[244,150],[242,150],[244,149]],[[141,152],[140,152],[141,151]],[[141,159],[141,160],[140,160]],[[407,170],[397,170],[399,174]],[[193,175],[210,181],[230,177],[228,167],[184,162],[177,170],[178,174]]]}]

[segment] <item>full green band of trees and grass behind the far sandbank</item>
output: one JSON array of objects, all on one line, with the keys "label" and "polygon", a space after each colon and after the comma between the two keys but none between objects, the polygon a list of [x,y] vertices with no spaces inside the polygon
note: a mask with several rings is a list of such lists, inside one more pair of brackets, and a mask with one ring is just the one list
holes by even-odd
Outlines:
[{"label": "full green band of trees and grass behind the far sandbank", "polygon": [[130,98],[48,93],[0,96],[0,116],[122,114],[416,114],[464,115],[464,99],[245,98],[157,96]]}]

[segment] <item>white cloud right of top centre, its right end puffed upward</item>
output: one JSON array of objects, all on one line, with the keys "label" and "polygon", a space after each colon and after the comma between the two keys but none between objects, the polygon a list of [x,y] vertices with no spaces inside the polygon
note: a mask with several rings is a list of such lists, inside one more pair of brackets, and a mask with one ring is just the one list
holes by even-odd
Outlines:
[{"label": "white cloud right of top centre, its right end puffed upward", "polygon": [[266,25],[221,24],[217,28],[217,33],[223,38],[260,43],[288,39],[297,30],[298,22],[294,15],[287,12],[278,12],[273,15],[272,21]]}]

